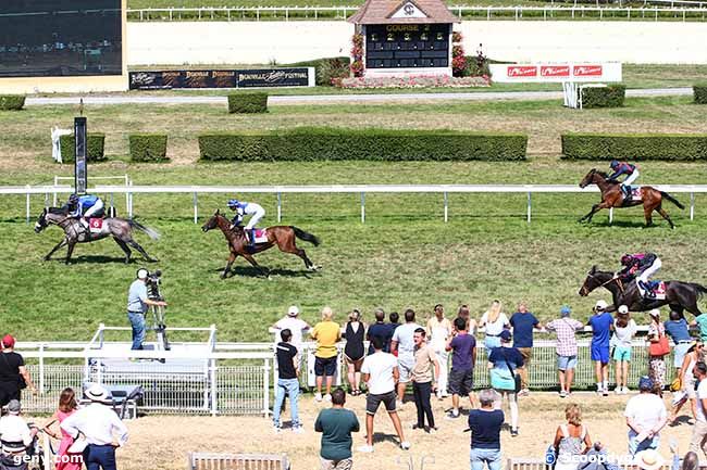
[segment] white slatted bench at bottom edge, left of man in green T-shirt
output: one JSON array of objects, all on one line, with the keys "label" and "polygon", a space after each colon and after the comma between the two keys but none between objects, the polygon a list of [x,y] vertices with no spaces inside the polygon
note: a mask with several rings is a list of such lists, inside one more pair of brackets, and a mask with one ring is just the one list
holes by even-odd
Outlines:
[{"label": "white slatted bench at bottom edge, left of man in green T-shirt", "polygon": [[289,470],[285,454],[216,454],[193,452],[187,470]]}]

